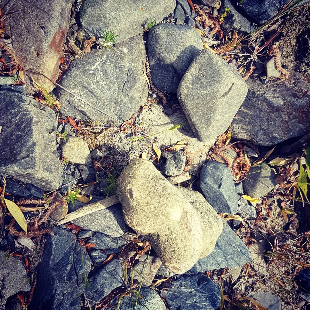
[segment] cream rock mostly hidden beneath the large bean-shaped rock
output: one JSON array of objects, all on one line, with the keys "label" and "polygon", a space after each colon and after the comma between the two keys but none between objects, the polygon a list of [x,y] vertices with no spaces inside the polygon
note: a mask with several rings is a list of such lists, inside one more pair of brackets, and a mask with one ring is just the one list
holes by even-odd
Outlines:
[{"label": "cream rock mostly hidden beneath the large bean-shaped rock", "polygon": [[[177,186],[182,195],[191,203],[202,219],[202,252],[200,257],[209,255],[214,247],[219,234],[222,232],[223,223],[221,218],[208,201],[197,191],[188,190],[185,187]],[[215,228],[216,227],[216,228]],[[215,234],[214,232],[218,232]]]}]

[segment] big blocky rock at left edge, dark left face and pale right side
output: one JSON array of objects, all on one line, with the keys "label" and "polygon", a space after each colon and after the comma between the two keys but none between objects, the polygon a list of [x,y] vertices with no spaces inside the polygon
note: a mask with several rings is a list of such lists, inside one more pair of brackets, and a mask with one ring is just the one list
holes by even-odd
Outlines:
[{"label": "big blocky rock at left edge, dark left face and pale right side", "polygon": [[6,89],[0,91],[0,171],[46,191],[58,189],[62,167],[55,113],[14,88]]}]

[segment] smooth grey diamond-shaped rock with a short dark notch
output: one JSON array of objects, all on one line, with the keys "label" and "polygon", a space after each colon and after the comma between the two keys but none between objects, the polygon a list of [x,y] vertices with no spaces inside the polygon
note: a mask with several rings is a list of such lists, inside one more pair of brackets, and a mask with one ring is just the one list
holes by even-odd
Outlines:
[{"label": "smooth grey diamond-shaped rock with a short dark notch", "polygon": [[206,141],[228,128],[246,93],[246,83],[237,70],[205,49],[179,83],[178,100],[197,139]]}]

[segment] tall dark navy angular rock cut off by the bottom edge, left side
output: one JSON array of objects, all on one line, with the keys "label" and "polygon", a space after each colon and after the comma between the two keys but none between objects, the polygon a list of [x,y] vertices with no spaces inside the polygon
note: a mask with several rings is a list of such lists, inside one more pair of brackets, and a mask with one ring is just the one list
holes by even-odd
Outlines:
[{"label": "tall dark navy angular rock cut off by the bottom edge, left side", "polygon": [[87,277],[91,259],[73,233],[59,227],[53,228],[53,232],[54,236],[47,235],[44,244],[42,261],[38,265],[37,286],[29,307],[32,310],[80,310],[85,288],[84,272]]}]

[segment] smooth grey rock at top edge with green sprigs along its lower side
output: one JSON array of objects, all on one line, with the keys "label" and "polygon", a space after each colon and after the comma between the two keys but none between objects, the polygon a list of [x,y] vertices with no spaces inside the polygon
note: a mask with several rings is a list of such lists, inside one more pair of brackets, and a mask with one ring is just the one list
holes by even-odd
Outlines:
[{"label": "smooth grey rock at top edge with green sprigs along its lower side", "polygon": [[118,34],[116,41],[122,42],[143,32],[146,21],[159,23],[174,8],[175,0],[89,0],[85,1],[84,27],[97,35],[98,30],[113,30]]}]

